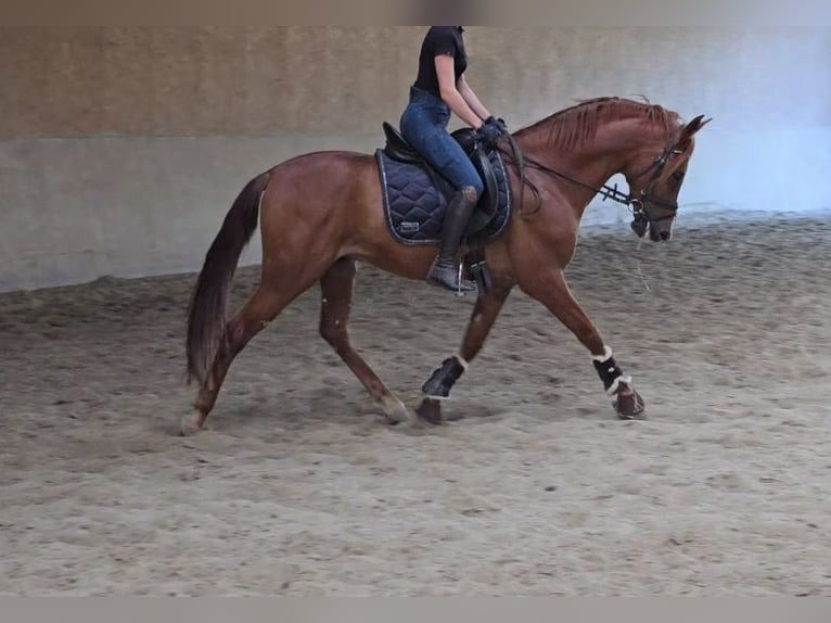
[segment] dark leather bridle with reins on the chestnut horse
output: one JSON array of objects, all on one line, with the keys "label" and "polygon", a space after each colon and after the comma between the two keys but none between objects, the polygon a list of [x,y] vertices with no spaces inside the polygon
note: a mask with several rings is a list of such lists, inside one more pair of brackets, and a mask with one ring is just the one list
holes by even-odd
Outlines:
[{"label": "dark leather bridle with reins on the chestnut horse", "polygon": [[[565,174],[563,171],[559,171],[554,168],[546,166],[542,163],[535,161],[534,158],[529,158],[525,156],[520,151],[520,147],[516,144],[516,141],[513,138],[513,136],[509,135],[508,139],[511,144],[511,151],[513,152],[510,155],[514,160],[514,162],[517,163],[517,168],[520,169],[522,193],[524,193],[525,186],[527,185],[532,189],[534,194],[537,195],[537,207],[532,212],[532,214],[540,209],[540,207],[542,206],[542,199],[540,198],[539,189],[537,189],[537,187],[534,185],[533,181],[528,180],[525,177],[524,168],[526,165],[529,165],[532,168],[535,168],[542,173],[547,173],[547,174],[563,178],[587,190],[591,190],[596,194],[600,195],[602,198],[602,201],[611,200],[629,207],[631,209],[632,217],[634,217],[631,228],[632,230],[635,230],[635,232],[638,234],[639,238],[642,238],[645,234],[647,229],[649,228],[650,225],[675,218],[676,213],[678,212],[677,201],[673,201],[673,202],[664,201],[663,199],[659,199],[652,194],[655,186],[657,185],[659,180],[664,174],[664,169],[666,168],[666,165],[669,162],[669,158],[673,155],[679,155],[683,153],[683,151],[679,149],[678,147],[677,137],[674,137],[673,139],[670,139],[669,142],[667,142],[666,147],[664,148],[664,151],[661,152],[661,154],[659,154],[657,156],[655,156],[655,158],[645,169],[643,169],[641,173],[639,173],[631,179],[631,181],[635,182],[641,179],[644,175],[652,173],[652,176],[650,177],[649,181],[644,185],[643,189],[640,191],[638,196],[631,196],[631,194],[626,194],[621,192],[619,190],[617,190],[617,185],[612,187],[612,186],[609,186],[608,183],[604,183],[603,186],[596,187],[590,183],[586,183],[585,181],[579,180],[570,174]],[[500,149],[499,151],[502,151],[502,150]],[[504,152],[502,151],[502,153]],[[522,195],[522,193],[520,198],[520,205],[522,205],[524,201],[524,196]],[[662,216],[660,218],[653,218],[649,214],[649,209],[648,209],[649,205],[654,205],[656,207],[665,209],[666,212],[668,212],[668,215]]]}]

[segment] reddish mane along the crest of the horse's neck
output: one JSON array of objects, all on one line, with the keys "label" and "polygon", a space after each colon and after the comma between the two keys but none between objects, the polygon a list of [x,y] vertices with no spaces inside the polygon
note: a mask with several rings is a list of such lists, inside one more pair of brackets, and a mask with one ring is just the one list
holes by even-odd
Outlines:
[{"label": "reddish mane along the crest of the horse's neck", "polygon": [[568,150],[593,139],[598,127],[604,120],[639,115],[647,123],[660,125],[667,134],[672,132],[679,122],[677,113],[652,104],[645,98],[638,102],[625,98],[603,97],[580,100],[516,134],[519,136],[549,126],[548,142],[554,142],[558,147]]}]

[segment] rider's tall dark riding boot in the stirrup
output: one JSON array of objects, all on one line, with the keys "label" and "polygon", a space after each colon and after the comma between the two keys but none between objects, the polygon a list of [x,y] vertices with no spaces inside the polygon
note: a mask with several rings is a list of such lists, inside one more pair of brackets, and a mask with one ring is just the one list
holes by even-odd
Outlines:
[{"label": "rider's tall dark riding boot in the stirrup", "polygon": [[458,191],[447,206],[447,216],[442,226],[442,247],[427,275],[427,283],[447,288],[453,292],[473,292],[476,284],[462,279],[459,283],[459,264],[457,253],[468,220],[476,207],[478,194],[473,187]]}]

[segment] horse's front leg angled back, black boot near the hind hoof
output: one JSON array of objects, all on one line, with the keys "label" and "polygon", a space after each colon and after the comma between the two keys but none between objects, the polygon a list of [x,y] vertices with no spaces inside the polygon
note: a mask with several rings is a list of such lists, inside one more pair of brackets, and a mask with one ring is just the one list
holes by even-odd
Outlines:
[{"label": "horse's front leg angled back, black boot near the hind hoof", "polygon": [[424,399],[416,409],[419,418],[431,424],[442,423],[442,400],[450,397],[453,385],[461,379],[476,355],[482,352],[485,340],[512,289],[513,287],[494,288],[487,293],[480,294],[468,322],[459,354],[447,359],[422,387]]}]

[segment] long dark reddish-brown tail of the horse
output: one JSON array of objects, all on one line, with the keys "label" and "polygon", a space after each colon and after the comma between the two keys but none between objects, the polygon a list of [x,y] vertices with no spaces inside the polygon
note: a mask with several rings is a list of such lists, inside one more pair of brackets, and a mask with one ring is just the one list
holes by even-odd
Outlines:
[{"label": "long dark reddish-brown tail of the horse", "polygon": [[205,256],[188,310],[188,382],[204,382],[225,340],[226,305],[243,249],[257,229],[259,202],[269,174],[242,189]]}]

